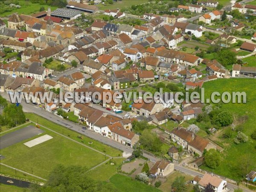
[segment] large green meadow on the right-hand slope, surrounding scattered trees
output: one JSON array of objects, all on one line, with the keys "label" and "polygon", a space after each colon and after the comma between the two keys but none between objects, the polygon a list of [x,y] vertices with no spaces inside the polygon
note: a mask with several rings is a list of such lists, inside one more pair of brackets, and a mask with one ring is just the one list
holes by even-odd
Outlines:
[{"label": "large green meadow on the right-hand slope, surrounding scattered trees", "polygon": [[[241,179],[240,175],[236,171],[237,160],[243,157],[243,155],[248,154],[252,160],[256,159],[256,153],[254,150],[256,141],[252,140],[250,134],[255,129],[255,119],[256,119],[256,80],[255,79],[218,79],[215,81],[205,82],[203,87],[205,88],[205,98],[210,98],[210,94],[214,91],[223,93],[227,91],[232,92],[242,92],[244,91],[247,95],[247,103],[227,103],[222,104],[221,109],[223,111],[229,111],[235,116],[248,116],[246,122],[242,124],[243,133],[249,136],[249,141],[247,143],[241,143],[239,145],[233,142],[233,138],[230,140],[221,139],[222,143],[227,143],[227,147],[222,152],[223,160],[217,169],[209,169],[208,167],[202,166],[201,168],[207,169],[208,171],[213,171],[216,174],[223,175],[232,179]],[[236,136],[236,133],[234,133]]]}]

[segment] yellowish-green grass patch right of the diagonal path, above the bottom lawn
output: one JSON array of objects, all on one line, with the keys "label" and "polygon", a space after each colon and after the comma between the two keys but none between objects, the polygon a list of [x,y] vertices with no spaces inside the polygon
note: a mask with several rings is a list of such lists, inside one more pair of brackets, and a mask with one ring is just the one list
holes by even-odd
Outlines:
[{"label": "yellowish-green grass patch right of the diagonal path, above the bottom lawn", "polygon": [[115,165],[111,165],[110,161],[108,161],[107,163],[97,167],[96,169],[93,169],[88,174],[90,175],[90,177],[98,181],[109,180],[110,177],[117,173],[116,170],[120,165],[122,165],[123,160],[125,160],[125,158],[113,159],[113,161],[116,162]]}]

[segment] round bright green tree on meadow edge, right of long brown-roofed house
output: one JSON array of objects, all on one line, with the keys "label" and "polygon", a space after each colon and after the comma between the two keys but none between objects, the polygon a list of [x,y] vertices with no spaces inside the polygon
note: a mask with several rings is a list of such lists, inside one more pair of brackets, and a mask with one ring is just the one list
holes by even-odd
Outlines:
[{"label": "round bright green tree on meadow edge, right of long brown-roofed house", "polygon": [[204,156],[205,164],[212,168],[216,169],[219,164],[221,163],[221,155],[218,151],[215,149],[211,148],[209,151],[206,152]]}]

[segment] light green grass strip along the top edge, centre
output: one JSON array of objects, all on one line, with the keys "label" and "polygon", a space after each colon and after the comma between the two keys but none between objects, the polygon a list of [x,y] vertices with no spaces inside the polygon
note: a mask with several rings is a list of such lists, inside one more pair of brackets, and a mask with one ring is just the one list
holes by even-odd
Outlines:
[{"label": "light green grass strip along the top edge, centre", "polygon": [[142,3],[147,3],[148,0],[122,0],[122,1],[117,1],[117,2],[114,2],[113,4],[107,4],[107,5],[102,5],[102,4],[99,4],[99,5],[96,5],[99,7],[100,10],[106,10],[106,9],[116,9],[116,8],[119,8],[119,9],[122,9],[124,7],[131,7],[132,5],[139,5],[139,4],[142,4]]}]

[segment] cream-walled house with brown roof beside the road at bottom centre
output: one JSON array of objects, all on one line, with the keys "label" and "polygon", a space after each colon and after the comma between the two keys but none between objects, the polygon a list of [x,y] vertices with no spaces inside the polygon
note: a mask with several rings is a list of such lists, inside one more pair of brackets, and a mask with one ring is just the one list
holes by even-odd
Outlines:
[{"label": "cream-walled house with brown roof beside the road at bottom centre", "polygon": [[167,160],[157,161],[154,166],[149,170],[149,173],[153,177],[166,177],[174,171],[174,163]]}]

